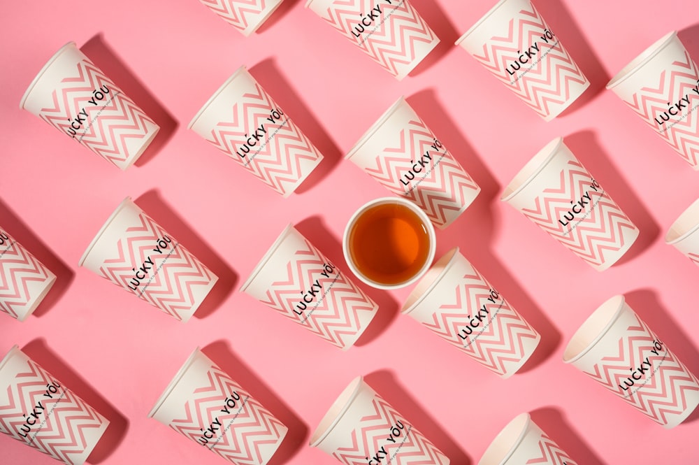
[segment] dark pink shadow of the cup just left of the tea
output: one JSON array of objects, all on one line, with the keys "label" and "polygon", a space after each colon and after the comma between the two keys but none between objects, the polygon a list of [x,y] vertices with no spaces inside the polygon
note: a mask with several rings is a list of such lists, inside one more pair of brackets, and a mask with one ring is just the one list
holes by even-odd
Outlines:
[{"label": "dark pink shadow of the cup just left of the tea", "polygon": [[342,243],[327,229],[321,217],[308,217],[294,224],[294,227],[301,235],[315,245],[323,255],[328,257],[333,264],[340,264],[340,270],[345,273],[345,276],[351,279],[354,285],[359,287],[379,306],[377,315],[371,320],[366,330],[359,336],[359,339],[357,339],[354,345],[366,345],[379,337],[385,329],[387,329],[389,324],[391,324],[391,321],[394,320],[396,315],[398,315],[398,302],[387,292],[370,287],[361,282],[359,278],[352,275],[352,272],[349,271],[349,266],[347,266],[347,262],[345,262]]}]

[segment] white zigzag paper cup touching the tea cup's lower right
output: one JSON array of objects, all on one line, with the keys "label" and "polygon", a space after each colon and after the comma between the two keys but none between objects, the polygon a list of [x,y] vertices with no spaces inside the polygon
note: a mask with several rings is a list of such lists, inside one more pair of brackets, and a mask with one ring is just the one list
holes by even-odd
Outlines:
[{"label": "white zigzag paper cup touching the tea cup's lower right", "polygon": [[517,372],[541,340],[459,248],[434,264],[401,311],[502,378]]}]

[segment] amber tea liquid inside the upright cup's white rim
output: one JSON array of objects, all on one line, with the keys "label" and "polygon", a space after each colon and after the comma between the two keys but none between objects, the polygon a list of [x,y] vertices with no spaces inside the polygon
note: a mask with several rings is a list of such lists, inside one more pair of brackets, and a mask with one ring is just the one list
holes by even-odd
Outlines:
[{"label": "amber tea liquid inside the upright cup's white rim", "polygon": [[349,231],[348,245],[356,269],[382,285],[410,280],[430,252],[427,227],[400,203],[382,203],[361,213]]}]

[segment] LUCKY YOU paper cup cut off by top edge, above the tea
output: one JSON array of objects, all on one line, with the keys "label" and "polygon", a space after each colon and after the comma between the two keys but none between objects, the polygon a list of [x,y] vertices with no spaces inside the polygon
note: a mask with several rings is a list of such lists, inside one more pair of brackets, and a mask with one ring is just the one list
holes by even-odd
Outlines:
[{"label": "LUCKY YOU paper cup cut off by top edge, above the tea", "polygon": [[407,0],[308,0],[305,6],[398,80],[439,43]]}]

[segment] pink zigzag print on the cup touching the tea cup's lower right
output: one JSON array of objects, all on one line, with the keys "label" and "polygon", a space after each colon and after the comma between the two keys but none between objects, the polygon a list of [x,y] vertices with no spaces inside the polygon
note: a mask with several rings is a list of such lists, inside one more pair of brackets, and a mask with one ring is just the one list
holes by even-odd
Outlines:
[{"label": "pink zigzag print on the cup touching the tea cup's lower right", "polygon": [[[527,340],[535,340],[538,334],[502,296],[489,301],[491,291],[493,287],[472,267],[454,287],[452,298],[445,296],[447,303],[421,323],[487,369],[505,375],[510,365],[526,357]],[[478,322],[474,319],[483,315],[483,306],[487,315]],[[471,328],[471,320],[479,326]],[[470,335],[463,331],[469,328],[473,329]]]}]

